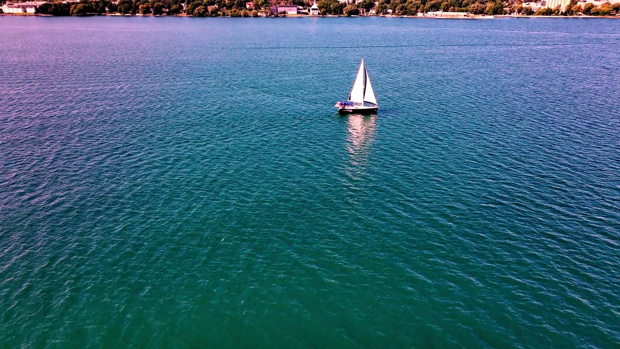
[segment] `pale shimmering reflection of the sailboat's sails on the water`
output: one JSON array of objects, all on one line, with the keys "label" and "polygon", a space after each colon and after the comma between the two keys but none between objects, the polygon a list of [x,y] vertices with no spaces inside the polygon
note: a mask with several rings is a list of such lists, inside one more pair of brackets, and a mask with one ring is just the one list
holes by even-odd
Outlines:
[{"label": "pale shimmering reflection of the sailboat's sails on the water", "polygon": [[[352,177],[357,178],[368,164],[368,150],[374,139],[376,115],[352,114],[347,117],[347,150],[351,161]],[[354,174],[355,173],[355,174]]]}]

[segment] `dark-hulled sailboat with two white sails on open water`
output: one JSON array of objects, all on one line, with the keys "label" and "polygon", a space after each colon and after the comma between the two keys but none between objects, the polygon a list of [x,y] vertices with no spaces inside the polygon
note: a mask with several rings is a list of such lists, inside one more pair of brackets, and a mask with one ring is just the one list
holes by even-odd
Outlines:
[{"label": "dark-hulled sailboat with two white sails on open water", "polygon": [[342,114],[371,114],[379,109],[379,104],[377,104],[377,99],[374,97],[373,86],[370,84],[370,78],[368,77],[363,59],[355,76],[355,82],[353,83],[348,101],[337,102],[335,107]]}]

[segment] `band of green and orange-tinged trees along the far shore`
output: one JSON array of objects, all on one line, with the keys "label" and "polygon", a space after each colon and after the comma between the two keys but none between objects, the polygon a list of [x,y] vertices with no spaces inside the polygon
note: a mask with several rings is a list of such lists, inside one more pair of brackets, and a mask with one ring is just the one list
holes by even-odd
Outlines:
[{"label": "band of green and orange-tinged trees along the far shore", "polygon": [[[0,1],[0,6],[4,4]],[[19,5],[19,2],[15,2]],[[301,14],[308,14],[311,4],[308,0],[289,0],[289,5],[299,6]],[[529,3],[527,3],[529,4]],[[361,0],[341,2],[320,0],[316,3],[320,16],[419,16],[418,14],[445,12],[466,12],[468,16],[620,16],[620,2],[604,2],[595,6],[591,2],[584,6],[571,0],[564,9],[540,8],[534,11],[520,0]],[[37,7],[35,14],[51,16],[92,16],[103,14],[142,16],[288,16],[274,11],[273,0],[80,0],[45,2]],[[1,11],[1,8],[0,8]]]}]

